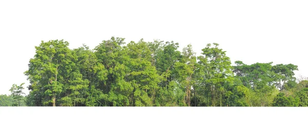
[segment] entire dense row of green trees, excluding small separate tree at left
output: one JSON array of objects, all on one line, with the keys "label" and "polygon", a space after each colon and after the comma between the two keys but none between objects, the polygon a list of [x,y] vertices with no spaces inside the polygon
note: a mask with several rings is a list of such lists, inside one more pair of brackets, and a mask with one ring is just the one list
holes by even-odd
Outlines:
[{"label": "entire dense row of green trees, excluding small separate tree at left", "polygon": [[218,43],[196,56],[173,41],[104,40],[94,50],[63,40],[35,46],[28,106],[307,106],[293,64],[236,61]]}]

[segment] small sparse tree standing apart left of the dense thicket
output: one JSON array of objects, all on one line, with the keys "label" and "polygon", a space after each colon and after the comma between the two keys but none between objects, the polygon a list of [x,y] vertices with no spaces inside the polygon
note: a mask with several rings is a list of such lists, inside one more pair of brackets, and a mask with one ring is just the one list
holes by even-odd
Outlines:
[{"label": "small sparse tree standing apart left of the dense thicket", "polygon": [[[25,94],[23,92],[23,85],[25,83],[22,83],[20,86],[17,86],[16,84],[13,84],[13,86],[11,87],[11,89],[9,91],[11,91],[14,102],[13,102],[13,106],[20,106],[21,105],[21,100],[23,98],[22,94]],[[17,102],[17,104],[16,104]]]}]

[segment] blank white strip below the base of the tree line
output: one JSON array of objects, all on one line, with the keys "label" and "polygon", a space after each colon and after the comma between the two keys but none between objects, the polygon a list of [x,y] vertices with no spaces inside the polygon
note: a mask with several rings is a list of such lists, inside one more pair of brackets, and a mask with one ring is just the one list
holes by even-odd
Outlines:
[{"label": "blank white strip below the base of the tree line", "polygon": [[[305,120],[308,108],[292,107],[0,107],[4,120]],[[8,115],[9,114],[9,115]]]}]

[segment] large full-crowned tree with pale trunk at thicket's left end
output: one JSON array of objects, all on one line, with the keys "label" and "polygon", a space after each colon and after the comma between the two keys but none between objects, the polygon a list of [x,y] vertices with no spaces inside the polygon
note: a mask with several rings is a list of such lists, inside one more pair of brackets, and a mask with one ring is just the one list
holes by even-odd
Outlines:
[{"label": "large full-crowned tree with pale trunk at thicket's left end", "polygon": [[30,59],[25,75],[30,81],[30,94],[36,95],[38,100],[42,99],[35,103],[36,106],[56,106],[56,98],[63,91],[63,83],[67,83],[67,75],[75,65],[73,59],[76,58],[72,57],[68,45],[67,41],[50,40],[42,41],[40,46],[35,46],[36,54]]}]

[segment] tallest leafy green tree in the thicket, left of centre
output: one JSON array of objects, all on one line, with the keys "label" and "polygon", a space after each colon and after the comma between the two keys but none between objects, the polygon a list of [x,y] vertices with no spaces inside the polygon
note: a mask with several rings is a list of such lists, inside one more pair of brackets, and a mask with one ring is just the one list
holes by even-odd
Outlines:
[{"label": "tallest leafy green tree in the thicket, left of centre", "polygon": [[105,106],[129,106],[130,104],[129,95],[132,87],[125,81],[129,56],[127,50],[123,48],[124,39],[111,37],[94,49],[100,65],[95,69],[103,71],[106,69],[106,73],[103,72],[103,75],[98,76],[100,81],[97,90],[92,89],[92,91],[100,93],[98,102],[105,102]]}]

